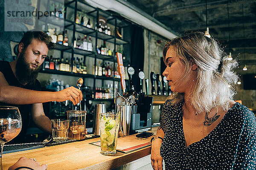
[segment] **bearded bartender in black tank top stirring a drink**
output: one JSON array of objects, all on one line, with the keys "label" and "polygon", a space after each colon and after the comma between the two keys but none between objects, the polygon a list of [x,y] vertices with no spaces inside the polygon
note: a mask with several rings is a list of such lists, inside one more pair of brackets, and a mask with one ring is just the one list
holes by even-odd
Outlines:
[{"label": "bearded bartender in black tank top stirring a drink", "polygon": [[51,40],[43,31],[27,31],[18,45],[15,61],[0,61],[0,105],[16,106],[22,118],[21,132],[12,143],[25,142],[30,116],[39,129],[52,132],[42,103],[70,100],[76,105],[82,100],[81,91],[73,86],[58,92],[40,91],[41,85],[36,78],[48,50],[54,48]]}]

